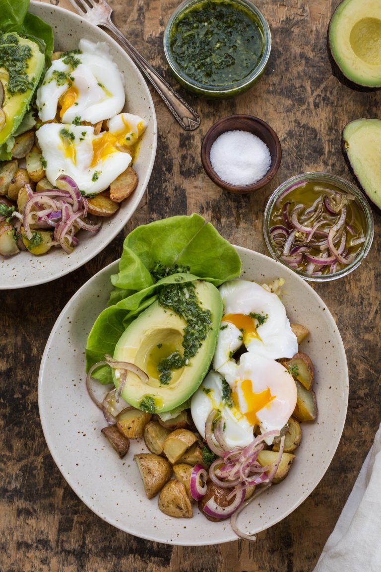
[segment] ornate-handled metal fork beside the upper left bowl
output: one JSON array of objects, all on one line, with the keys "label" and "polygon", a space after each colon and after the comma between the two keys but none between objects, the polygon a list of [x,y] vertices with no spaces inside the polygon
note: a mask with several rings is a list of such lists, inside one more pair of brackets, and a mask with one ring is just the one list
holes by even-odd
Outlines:
[{"label": "ornate-handled metal fork beside the upper left bowl", "polygon": [[183,129],[192,131],[200,125],[198,113],[176,93],[169,84],[159,76],[158,72],[142,57],[134,46],[125,38],[118,28],[111,22],[113,9],[105,0],[70,0],[71,5],[87,22],[95,26],[104,26],[110,30],[121,42],[130,57],[134,60],[147,80],[151,82],[166,106],[173,113]]}]

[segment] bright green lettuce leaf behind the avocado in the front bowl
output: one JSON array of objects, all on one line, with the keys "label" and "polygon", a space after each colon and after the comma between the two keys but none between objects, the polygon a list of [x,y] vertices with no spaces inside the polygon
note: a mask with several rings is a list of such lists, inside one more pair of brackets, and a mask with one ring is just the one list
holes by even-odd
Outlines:
[{"label": "bright green lettuce leaf behind the avocado in the front bowl", "polygon": [[[158,263],[165,268],[177,264],[189,272],[155,281]],[[112,305],[98,316],[87,339],[87,370],[103,360],[105,353],[113,355],[127,326],[157,300],[163,286],[199,279],[219,286],[238,277],[240,265],[235,248],[199,215],[171,217],[136,228],[123,244],[118,274],[111,276]],[[112,383],[107,366],[94,376],[101,383]]]}]

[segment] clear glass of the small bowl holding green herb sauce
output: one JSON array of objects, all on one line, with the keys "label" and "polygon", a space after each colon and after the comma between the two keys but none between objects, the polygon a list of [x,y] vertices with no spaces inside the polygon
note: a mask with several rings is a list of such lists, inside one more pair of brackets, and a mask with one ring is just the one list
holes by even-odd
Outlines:
[{"label": "clear glass of the small bowl holding green herb sauce", "polygon": [[[171,15],[166,29],[164,31],[164,53],[167,59],[167,63],[170,67],[171,72],[179,82],[179,84],[183,85],[187,90],[190,92],[196,93],[199,96],[203,97],[214,97],[214,98],[223,98],[223,97],[233,97],[238,95],[239,93],[246,92],[247,89],[250,89],[251,86],[258,80],[260,76],[262,76],[264,69],[266,68],[268,58],[270,57],[271,51],[271,32],[270,27],[264,18],[262,12],[254,6],[252,2],[249,0],[228,0],[230,3],[236,4],[237,6],[242,6],[252,15],[254,15],[256,21],[258,22],[258,27],[263,35],[263,42],[264,42],[264,49],[262,53],[262,57],[260,58],[258,65],[255,67],[254,70],[248,76],[243,78],[243,80],[234,82],[230,85],[224,86],[215,86],[215,85],[207,85],[202,84],[183,72],[182,68],[178,65],[175,61],[173,54],[170,49],[170,37],[171,32],[175,23],[177,23],[178,19],[186,12],[192,9],[192,7],[199,4],[202,0],[185,0],[182,2],[174,13]],[[210,0],[211,2],[218,2],[218,0]]]}]

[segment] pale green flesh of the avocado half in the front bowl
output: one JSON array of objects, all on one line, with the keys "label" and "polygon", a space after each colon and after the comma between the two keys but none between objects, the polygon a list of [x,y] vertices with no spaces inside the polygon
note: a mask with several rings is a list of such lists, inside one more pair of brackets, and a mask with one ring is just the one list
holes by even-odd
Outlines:
[{"label": "pale green flesh of the avocado half in the front bowl", "polygon": [[[207,374],[222,319],[222,300],[214,285],[203,281],[192,284],[199,307],[203,311],[210,311],[210,325],[206,338],[195,355],[186,360],[186,365],[178,364],[176,360],[171,362],[171,356],[178,356],[180,362],[186,358],[187,349],[183,341],[185,328],[189,324],[178,313],[159,304],[159,301],[151,304],[129,325],[115,347],[115,359],[133,363],[149,376],[149,381],[143,383],[133,372],[127,374],[122,396],[134,407],[158,413],[170,411],[184,403]],[[170,375],[163,376],[161,372],[165,363],[175,363],[175,367]],[[118,386],[115,374],[114,383]]]}]

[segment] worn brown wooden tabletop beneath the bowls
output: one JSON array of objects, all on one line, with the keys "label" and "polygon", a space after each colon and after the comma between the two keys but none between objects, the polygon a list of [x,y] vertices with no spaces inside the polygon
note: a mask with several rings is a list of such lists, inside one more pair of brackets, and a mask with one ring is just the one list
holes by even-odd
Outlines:
[{"label": "worn brown wooden tabletop beneath the bowls", "polygon": [[[67,0],[61,5],[65,2],[68,5]],[[114,22],[173,85],[162,35],[177,4],[177,0],[110,0]],[[133,228],[197,212],[232,243],[266,253],[263,209],[280,182],[309,170],[327,170],[351,180],[340,150],[340,132],[347,121],[378,117],[381,92],[355,92],[332,76],[326,35],[338,0],[257,0],[256,4],[270,23],[273,47],[266,73],[254,89],[233,100],[214,102],[181,90],[202,117],[200,128],[191,133],[181,129],[153,92],[157,157],[145,197],[125,231],[69,276],[0,293],[2,572],[310,572],[351,491],[380,422],[381,220],[375,208],[375,240],[367,259],[350,276],[316,286],[337,320],[347,351],[350,399],[342,440],[314,492],[289,517],[259,534],[258,542],[173,547],[114,529],[87,509],[62,478],[38,415],[39,363],[59,312],[82,284],[121,255],[123,238]],[[263,118],[282,143],[283,159],[275,180],[249,196],[220,191],[200,162],[207,129],[232,113]]]}]

